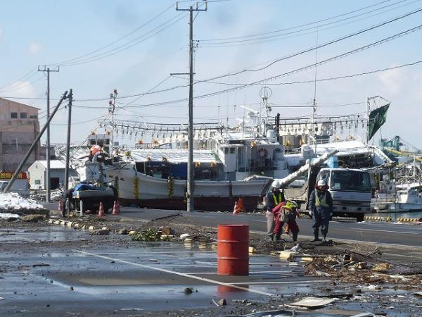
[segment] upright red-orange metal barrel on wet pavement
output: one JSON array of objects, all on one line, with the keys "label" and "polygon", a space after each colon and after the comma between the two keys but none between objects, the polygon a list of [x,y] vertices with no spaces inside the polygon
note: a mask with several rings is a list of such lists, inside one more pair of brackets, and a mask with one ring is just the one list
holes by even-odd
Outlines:
[{"label": "upright red-orange metal barrel on wet pavement", "polygon": [[249,275],[249,225],[218,225],[217,274]]}]

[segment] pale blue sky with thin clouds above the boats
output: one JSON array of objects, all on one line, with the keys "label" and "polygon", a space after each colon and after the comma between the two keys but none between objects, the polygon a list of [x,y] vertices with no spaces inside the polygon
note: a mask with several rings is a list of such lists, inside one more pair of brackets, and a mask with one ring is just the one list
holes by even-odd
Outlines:
[{"label": "pale blue sky with thin clouds above the boats", "polygon": [[[191,5],[196,1],[179,1],[179,8]],[[233,125],[243,116],[241,105],[260,108],[265,85],[271,116],[281,118],[310,116],[314,94],[318,116],[364,114],[366,99],[381,96],[371,107],[391,106],[372,142],[399,135],[422,148],[422,63],[416,63],[422,30],[391,39],[421,25],[421,9],[421,0],[210,0],[193,23],[195,80],[207,80],[194,85],[194,120]],[[50,74],[51,108],[72,88],[72,142],[84,142],[91,130],[104,132],[99,122],[109,118],[113,89],[117,120],[187,123],[187,101],[177,101],[188,97],[187,76],[170,74],[188,72],[188,13],[176,11],[174,1],[15,0],[4,1],[0,16],[0,97],[39,108],[44,123],[46,75],[37,67],[59,66]],[[364,32],[340,39],[358,31]],[[326,45],[316,50],[317,44]],[[333,56],[343,57],[282,75]],[[53,118],[51,142],[65,142],[67,116],[61,107]],[[342,138],[359,133],[338,132]],[[121,144],[137,138],[117,133]]]}]

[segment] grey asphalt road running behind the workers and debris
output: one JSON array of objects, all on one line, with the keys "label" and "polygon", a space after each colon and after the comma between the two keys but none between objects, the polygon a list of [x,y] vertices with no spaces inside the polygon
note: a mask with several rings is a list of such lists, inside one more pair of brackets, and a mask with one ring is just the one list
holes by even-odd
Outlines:
[{"label": "grey asphalt road running behind the workers and debris", "polygon": [[[158,209],[123,208],[122,218],[136,220],[151,220],[153,218],[170,215],[178,211]],[[267,231],[267,220],[262,214],[239,214],[180,211],[194,223],[217,228],[217,225],[230,223],[246,223],[250,230]],[[298,220],[299,237],[312,237],[312,220],[301,218]],[[367,221],[357,223],[355,220],[332,220],[328,229],[328,238],[333,240],[350,240],[356,242],[373,242],[392,246],[421,248],[422,225],[383,223]]]}]

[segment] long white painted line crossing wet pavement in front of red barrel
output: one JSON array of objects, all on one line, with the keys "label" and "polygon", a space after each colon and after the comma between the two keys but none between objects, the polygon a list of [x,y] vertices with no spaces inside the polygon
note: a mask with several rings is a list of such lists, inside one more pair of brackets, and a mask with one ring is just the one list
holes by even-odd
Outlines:
[{"label": "long white painted line crossing wet pavement in front of red barrel", "polygon": [[86,251],[80,251],[80,250],[73,250],[73,251],[79,252],[79,253],[82,253],[82,254],[86,254],[86,255],[89,255],[89,256],[96,256],[97,258],[101,258],[101,259],[106,259],[106,260],[116,261],[116,262],[120,262],[120,263],[130,264],[132,266],[139,266],[140,268],[149,268],[149,269],[155,270],[155,271],[161,271],[161,272],[164,272],[164,273],[179,275],[179,276],[183,276],[184,278],[192,278],[193,280],[201,280],[203,282],[209,282],[209,283],[216,284],[216,285],[224,285],[224,286],[228,286],[228,287],[233,287],[233,288],[236,288],[238,290],[243,290],[243,291],[247,291],[247,292],[257,293],[257,294],[266,295],[266,296],[270,296],[270,297],[279,296],[277,294],[262,292],[260,290],[250,290],[248,287],[241,287],[241,286],[233,285],[233,284],[230,284],[230,283],[219,282],[218,280],[210,280],[209,278],[200,278],[199,276],[195,276],[195,275],[189,275],[189,274],[186,274],[186,273],[170,271],[170,270],[166,270],[165,268],[158,268],[156,266],[146,266],[144,264],[134,263],[134,262],[131,262],[131,261],[113,259],[113,258],[110,258],[110,256],[102,256],[102,255],[99,255],[99,254],[89,253],[89,252],[86,252]]}]

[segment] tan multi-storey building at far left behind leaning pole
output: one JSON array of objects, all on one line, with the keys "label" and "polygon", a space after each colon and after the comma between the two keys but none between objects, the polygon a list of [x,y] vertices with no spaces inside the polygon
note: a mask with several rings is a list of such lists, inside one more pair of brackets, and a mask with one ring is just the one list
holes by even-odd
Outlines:
[{"label": "tan multi-storey building at far left behind leaning pole", "polygon": [[[0,170],[14,172],[39,133],[38,108],[0,98]],[[23,170],[39,159],[34,148]]]}]

